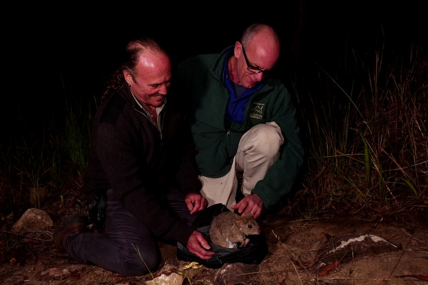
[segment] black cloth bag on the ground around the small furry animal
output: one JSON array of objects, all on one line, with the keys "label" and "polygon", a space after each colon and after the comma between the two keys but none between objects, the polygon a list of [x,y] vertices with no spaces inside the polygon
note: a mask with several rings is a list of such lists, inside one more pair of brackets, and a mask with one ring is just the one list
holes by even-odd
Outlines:
[{"label": "black cloth bag on the ground around the small furry animal", "polygon": [[223,204],[215,204],[202,212],[192,227],[200,231],[210,242],[215,255],[209,260],[202,260],[191,253],[187,247],[177,242],[177,258],[184,261],[196,261],[208,268],[220,268],[224,263],[241,262],[246,264],[259,264],[268,254],[268,244],[264,233],[253,235],[246,247],[225,248],[213,244],[209,239],[210,224],[215,216],[222,212],[229,212]]}]

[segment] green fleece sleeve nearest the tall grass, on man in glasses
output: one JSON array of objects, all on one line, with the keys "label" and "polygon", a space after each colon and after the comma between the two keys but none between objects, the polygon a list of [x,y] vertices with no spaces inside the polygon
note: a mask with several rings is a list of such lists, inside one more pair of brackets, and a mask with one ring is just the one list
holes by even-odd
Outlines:
[{"label": "green fleece sleeve nearest the tall grass, on man in glasses", "polygon": [[[265,178],[257,182],[252,193],[257,194],[266,209],[278,203],[289,193],[303,165],[304,149],[299,136],[296,110],[284,85],[277,91],[269,121],[275,121],[284,136],[280,158],[267,171]],[[277,87],[278,89],[278,87]],[[276,89],[276,90],[277,90]]]}]

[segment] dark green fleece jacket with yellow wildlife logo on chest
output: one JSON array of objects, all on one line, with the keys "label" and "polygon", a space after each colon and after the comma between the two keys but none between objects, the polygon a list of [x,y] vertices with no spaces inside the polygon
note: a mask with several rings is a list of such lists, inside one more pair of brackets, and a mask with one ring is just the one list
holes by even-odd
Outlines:
[{"label": "dark green fleece jacket with yellow wildlife logo on chest", "polygon": [[280,126],[285,138],[280,159],[252,190],[269,209],[291,190],[303,164],[296,111],[284,84],[277,79],[265,79],[264,86],[251,96],[244,122],[228,123],[224,118],[229,93],[222,70],[230,48],[221,54],[187,58],[177,67],[176,84],[191,99],[191,127],[199,148],[196,160],[204,176],[221,177],[230,171],[239,140],[252,126],[270,121]]}]

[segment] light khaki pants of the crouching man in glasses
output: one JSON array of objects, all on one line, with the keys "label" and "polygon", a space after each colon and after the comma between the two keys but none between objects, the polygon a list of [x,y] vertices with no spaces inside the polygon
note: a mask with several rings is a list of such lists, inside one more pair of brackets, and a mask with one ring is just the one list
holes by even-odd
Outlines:
[{"label": "light khaki pants of the crouching man in glasses", "polygon": [[237,171],[242,172],[241,192],[251,194],[256,183],[265,177],[268,169],[280,157],[280,147],[284,143],[281,129],[276,122],[258,124],[249,129],[241,138],[230,171],[219,178],[199,176],[202,181],[201,193],[208,200],[208,206],[222,203],[231,209],[236,204],[238,188]]}]

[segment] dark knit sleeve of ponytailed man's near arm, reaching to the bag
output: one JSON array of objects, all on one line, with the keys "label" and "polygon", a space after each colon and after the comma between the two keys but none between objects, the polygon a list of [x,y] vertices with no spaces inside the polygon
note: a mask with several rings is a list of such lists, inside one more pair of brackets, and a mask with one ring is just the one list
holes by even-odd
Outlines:
[{"label": "dark knit sleeve of ponytailed man's near arm, reaching to the bag", "polygon": [[101,123],[96,130],[94,147],[110,187],[121,197],[120,203],[165,239],[187,244],[193,229],[162,205],[150,189],[152,177],[132,142],[129,128]]}]

